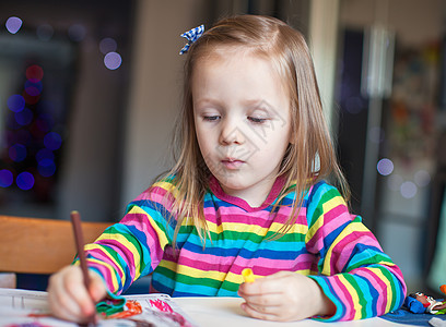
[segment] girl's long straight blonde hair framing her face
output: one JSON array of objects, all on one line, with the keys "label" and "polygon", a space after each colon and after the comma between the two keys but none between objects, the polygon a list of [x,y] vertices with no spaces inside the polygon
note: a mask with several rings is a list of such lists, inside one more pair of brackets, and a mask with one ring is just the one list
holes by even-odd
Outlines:
[{"label": "girl's long straight blonde hair framing her face", "polygon": [[297,198],[285,227],[278,232],[279,237],[291,228],[308,187],[319,180],[333,177],[347,201],[350,196],[324,119],[313,60],[304,36],[273,17],[238,15],[224,19],[190,46],[185,62],[184,104],[174,140],[178,156],[167,173],[174,175],[173,183],[177,189],[172,211],[177,219],[174,243],[185,219],[192,220],[200,238],[206,239],[209,234],[203,197],[209,187],[210,171],[196,136],[191,77],[200,58],[222,46],[243,47],[267,58],[289,88],[293,141],[278,174],[285,177],[285,183],[277,204],[293,191]]}]

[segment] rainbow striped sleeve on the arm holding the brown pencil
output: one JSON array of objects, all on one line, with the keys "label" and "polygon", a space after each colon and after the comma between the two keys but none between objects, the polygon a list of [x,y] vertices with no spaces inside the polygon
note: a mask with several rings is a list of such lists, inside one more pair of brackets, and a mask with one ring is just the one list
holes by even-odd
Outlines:
[{"label": "rainbow striped sleeve on the arm holding the brown pencil", "polygon": [[89,268],[99,272],[107,288],[117,294],[140,276],[151,274],[172,241],[175,227],[162,215],[166,208],[149,201],[148,194],[142,193],[128,205],[119,223],[85,245]]}]

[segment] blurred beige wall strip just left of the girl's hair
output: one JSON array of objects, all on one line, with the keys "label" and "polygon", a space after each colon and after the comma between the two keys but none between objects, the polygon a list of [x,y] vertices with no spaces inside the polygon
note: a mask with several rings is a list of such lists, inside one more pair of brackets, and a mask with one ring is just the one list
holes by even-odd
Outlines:
[{"label": "blurred beige wall strip just left of the girl's hair", "polygon": [[181,104],[185,31],[202,23],[204,0],[140,0],[126,121],[122,207],[169,167],[171,135]]}]

